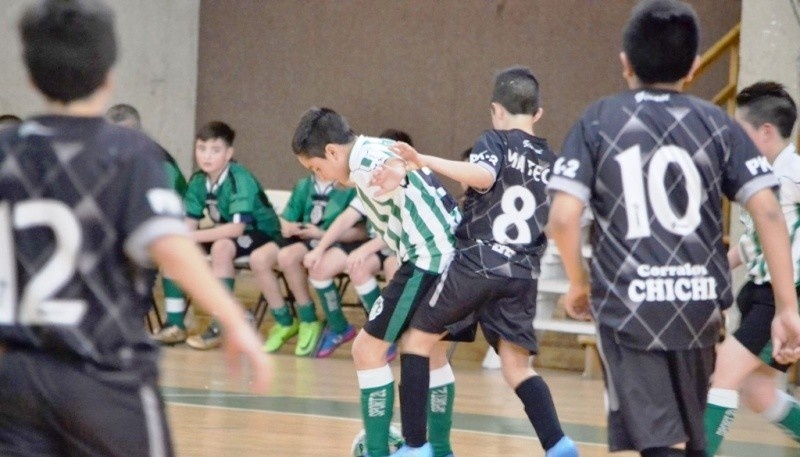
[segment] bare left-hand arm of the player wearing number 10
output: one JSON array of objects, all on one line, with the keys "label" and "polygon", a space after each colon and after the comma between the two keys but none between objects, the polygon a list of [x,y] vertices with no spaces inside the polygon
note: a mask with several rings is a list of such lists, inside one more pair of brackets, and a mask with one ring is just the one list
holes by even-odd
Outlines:
[{"label": "bare left-hand arm of the player wearing number 10", "polygon": [[555,241],[569,279],[564,308],[575,319],[590,320],[589,273],[581,256],[581,214],[585,205],[565,192],[555,192],[551,198],[553,204],[550,206],[547,236]]}]

